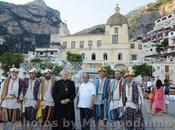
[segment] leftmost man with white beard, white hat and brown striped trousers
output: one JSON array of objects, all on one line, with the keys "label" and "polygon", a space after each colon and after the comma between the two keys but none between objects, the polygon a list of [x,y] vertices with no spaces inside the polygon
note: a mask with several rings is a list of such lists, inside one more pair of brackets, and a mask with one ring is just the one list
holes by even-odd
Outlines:
[{"label": "leftmost man with white beard, white hat and brown striped trousers", "polygon": [[22,80],[18,78],[19,70],[10,69],[10,76],[1,84],[0,103],[2,107],[2,122],[12,122],[13,129],[20,121],[20,94],[22,91]]}]

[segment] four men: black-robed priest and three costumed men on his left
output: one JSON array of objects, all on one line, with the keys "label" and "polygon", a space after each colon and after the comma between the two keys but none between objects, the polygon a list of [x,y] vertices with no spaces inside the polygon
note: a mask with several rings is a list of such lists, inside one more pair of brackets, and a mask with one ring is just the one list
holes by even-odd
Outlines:
[{"label": "four men: black-robed priest and three costumed men on his left", "polygon": [[24,79],[20,79],[18,74],[19,69],[11,68],[9,77],[1,84],[0,128],[4,130],[6,123],[11,122],[13,130],[21,124],[26,130],[32,130],[34,126],[39,129],[72,129],[71,126],[63,128],[62,125],[63,119],[75,120],[72,109],[75,85],[68,80],[68,71],[62,71],[59,81],[53,79],[50,69],[44,71],[42,78],[36,77],[37,70],[34,68]]}]

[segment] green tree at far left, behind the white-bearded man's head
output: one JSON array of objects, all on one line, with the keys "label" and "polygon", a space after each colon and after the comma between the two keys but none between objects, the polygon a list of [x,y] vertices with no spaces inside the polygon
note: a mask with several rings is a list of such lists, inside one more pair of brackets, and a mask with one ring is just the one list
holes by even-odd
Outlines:
[{"label": "green tree at far left, behind the white-bearded man's head", "polygon": [[24,62],[24,57],[20,53],[6,52],[0,56],[0,62],[4,73],[7,73],[13,65],[19,68],[20,64]]}]

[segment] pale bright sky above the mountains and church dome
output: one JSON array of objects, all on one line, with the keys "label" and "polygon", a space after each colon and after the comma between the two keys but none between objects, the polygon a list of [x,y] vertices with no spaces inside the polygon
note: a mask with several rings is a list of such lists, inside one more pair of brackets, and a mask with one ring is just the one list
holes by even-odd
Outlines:
[{"label": "pale bright sky above the mountains and church dome", "polygon": [[[0,0],[14,4],[25,4],[33,0]],[[81,31],[98,24],[105,24],[114,14],[116,4],[119,4],[121,14],[154,2],[155,0],[44,0],[47,6],[60,12],[63,22],[66,22],[70,33]]]}]

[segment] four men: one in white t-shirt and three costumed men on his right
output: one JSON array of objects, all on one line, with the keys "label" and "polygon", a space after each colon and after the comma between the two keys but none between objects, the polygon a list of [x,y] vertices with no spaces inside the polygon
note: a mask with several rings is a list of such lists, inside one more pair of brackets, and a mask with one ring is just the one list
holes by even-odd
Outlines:
[{"label": "four men: one in white t-shirt and three costumed men on his right", "polygon": [[[143,93],[141,87],[133,80],[133,74],[127,72],[124,76],[115,71],[115,79],[105,76],[105,69],[98,70],[99,77],[92,84],[88,81],[89,75],[83,75],[83,83],[78,91],[78,107],[82,130],[90,130],[91,117],[95,120],[95,129],[103,130],[123,127],[128,130],[143,130],[144,119],[142,114]],[[116,122],[120,122],[116,126]]]}]

